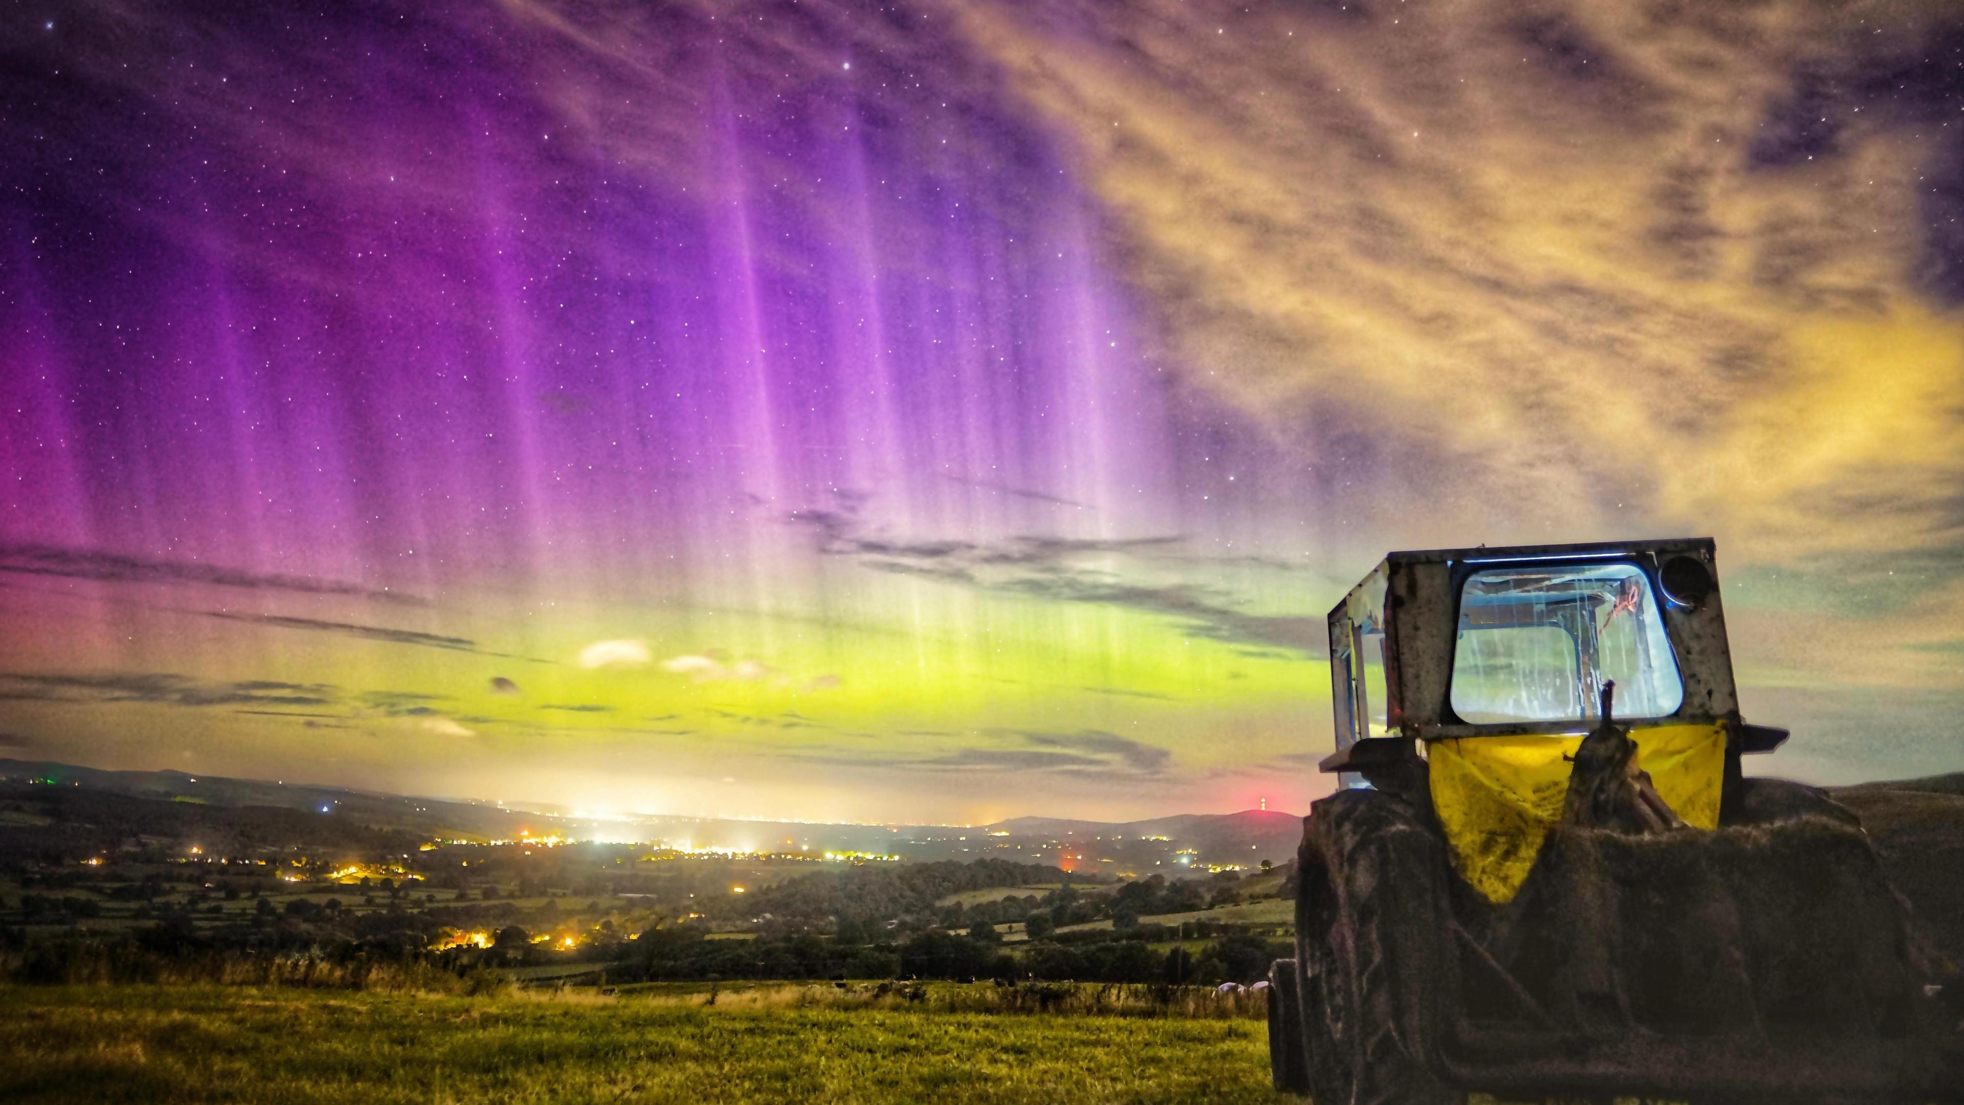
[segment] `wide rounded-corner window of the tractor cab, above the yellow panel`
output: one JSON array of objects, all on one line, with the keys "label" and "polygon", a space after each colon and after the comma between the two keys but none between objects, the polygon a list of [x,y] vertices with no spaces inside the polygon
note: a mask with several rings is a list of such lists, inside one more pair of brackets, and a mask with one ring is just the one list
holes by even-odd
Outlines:
[{"label": "wide rounded-corner window of the tractor cab, above the yellow panel", "polygon": [[1636,564],[1491,568],[1467,578],[1451,684],[1461,722],[1591,720],[1605,680],[1616,680],[1620,718],[1664,718],[1685,700]]}]

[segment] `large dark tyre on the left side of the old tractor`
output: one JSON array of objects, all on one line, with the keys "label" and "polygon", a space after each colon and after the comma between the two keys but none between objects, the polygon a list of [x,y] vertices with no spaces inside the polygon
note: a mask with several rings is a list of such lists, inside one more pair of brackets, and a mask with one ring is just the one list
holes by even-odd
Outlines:
[{"label": "large dark tyre on the left side of the old tractor", "polygon": [[1316,1105],[1457,1105],[1426,1046],[1446,954],[1444,840],[1369,790],[1316,804],[1298,855],[1296,958]]}]

